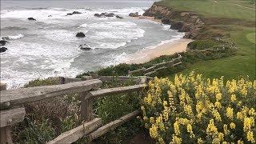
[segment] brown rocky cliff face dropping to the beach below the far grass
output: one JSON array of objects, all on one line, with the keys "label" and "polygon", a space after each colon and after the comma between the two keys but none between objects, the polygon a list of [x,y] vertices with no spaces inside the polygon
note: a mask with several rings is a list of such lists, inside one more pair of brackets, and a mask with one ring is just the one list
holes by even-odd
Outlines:
[{"label": "brown rocky cliff face dropping to the beach below the far grass", "polygon": [[198,14],[189,11],[178,11],[166,6],[162,6],[161,2],[154,2],[153,6],[143,14],[157,19],[161,19],[164,24],[170,24],[170,28],[180,32],[186,32],[184,38],[195,39],[204,22]]}]

